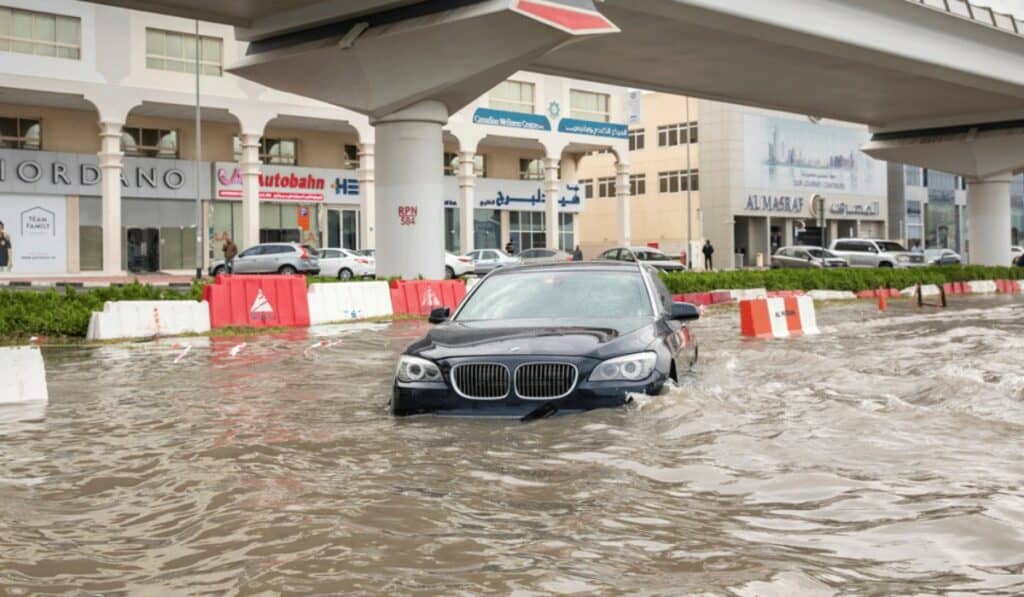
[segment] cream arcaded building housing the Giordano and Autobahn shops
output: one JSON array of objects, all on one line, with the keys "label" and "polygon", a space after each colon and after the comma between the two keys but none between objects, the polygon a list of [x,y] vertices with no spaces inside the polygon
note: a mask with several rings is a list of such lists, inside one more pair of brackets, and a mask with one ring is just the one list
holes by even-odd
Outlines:
[{"label": "cream arcaded building housing the Giordano and Autobahn shops", "polygon": [[[373,248],[374,128],[232,76],[245,48],[212,23],[0,1],[0,221],[13,273],[190,271],[228,237]],[[577,162],[625,156],[625,114],[624,89],[528,73],[454,114],[437,165],[447,248],[575,243]]]}]

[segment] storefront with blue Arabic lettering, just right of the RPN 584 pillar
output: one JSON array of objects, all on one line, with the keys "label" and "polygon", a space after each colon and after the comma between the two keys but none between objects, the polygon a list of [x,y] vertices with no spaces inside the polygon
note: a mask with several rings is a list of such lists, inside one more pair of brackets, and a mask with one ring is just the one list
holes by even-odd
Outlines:
[{"label": "storefront with blue Arabic lettering, just right of the RPN 584 pillar", "polygon": [[[558,248],[571,252],[575,247],[577,215],[583,211],[583,196],[575,182],[559,183]],[[459,185],[454,176],[444,177],[444,249],[462,253],[460,247]],[[477,178],[473,212],[473,246],[503,249],[509,241],[516,252],[547,247],[549,227],[544,182]]]}]

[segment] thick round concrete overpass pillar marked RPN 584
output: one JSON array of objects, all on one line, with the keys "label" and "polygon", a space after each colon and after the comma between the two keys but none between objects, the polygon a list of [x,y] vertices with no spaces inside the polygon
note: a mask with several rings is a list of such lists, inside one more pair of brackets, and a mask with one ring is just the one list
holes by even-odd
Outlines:
[{"label": "thick round concrete overpass pillar marked RPN 584", "polygon": [[444,276],[444,171],[441,127],[447,109],[427,100],[372,121],[380,201],[377,276]]}]

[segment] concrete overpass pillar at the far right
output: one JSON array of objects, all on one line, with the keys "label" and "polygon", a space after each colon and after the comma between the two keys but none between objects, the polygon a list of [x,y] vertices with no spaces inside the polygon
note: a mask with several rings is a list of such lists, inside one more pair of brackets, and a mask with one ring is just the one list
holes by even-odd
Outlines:
[{"label": "concrete overpass pillar at the far right", "polygon": [[1010,265],[1010,175],[967,186],[967,225],[973,265]]}]

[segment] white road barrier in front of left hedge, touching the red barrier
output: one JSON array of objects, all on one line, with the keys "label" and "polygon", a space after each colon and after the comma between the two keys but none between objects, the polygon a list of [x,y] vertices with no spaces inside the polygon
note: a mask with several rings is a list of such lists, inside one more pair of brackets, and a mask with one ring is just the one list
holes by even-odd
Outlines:
[{"label": "white road barrier in front of left hedge, touching the red barrier", "polygon": [[210,331],[210,306],[199,301],[108,301],[89,318],[89,340],[148,338]]}]

